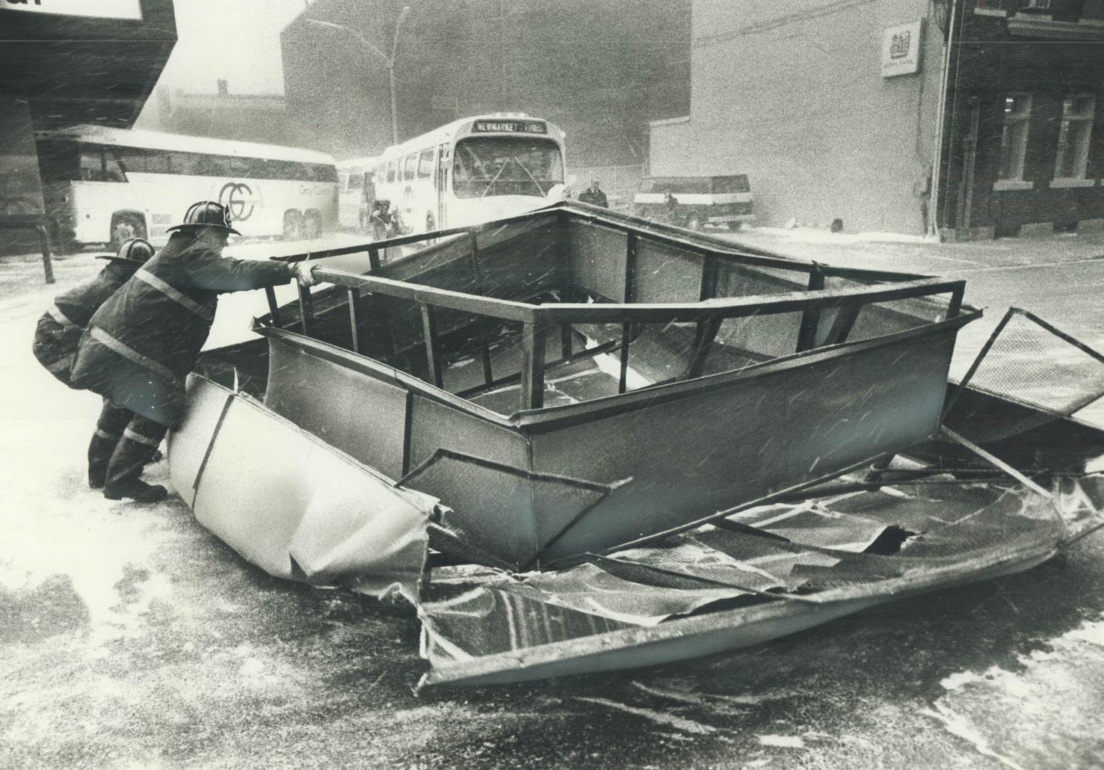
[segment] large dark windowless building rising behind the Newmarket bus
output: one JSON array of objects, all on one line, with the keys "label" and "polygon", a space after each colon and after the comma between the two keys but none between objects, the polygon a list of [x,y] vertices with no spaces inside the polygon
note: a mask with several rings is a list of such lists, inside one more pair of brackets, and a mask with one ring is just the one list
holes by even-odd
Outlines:
[{"label": "large dark windowless building rising behind the Newmarket bus", "polygon": [[690,2],[316,0],[282,35],[288,111],[338,157],[389,146],[384,56],[355,35],[390,54],[408,6],[395,49],[400,140],[524,111],[567,132],[572,167],[639,167],[648,121],[689,106]]}]

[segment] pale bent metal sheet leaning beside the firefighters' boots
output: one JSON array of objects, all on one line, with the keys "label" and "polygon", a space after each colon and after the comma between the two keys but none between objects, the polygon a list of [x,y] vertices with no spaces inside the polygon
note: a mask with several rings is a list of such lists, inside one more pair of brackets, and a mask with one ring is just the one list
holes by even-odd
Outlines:
[{"label": "pale bent metal sheet leaning beside the firefighters' boots", "polygon": [[270,575],[354,581],[367,592],[397,584],[414,596],[434,499],[394,488],[261,404],[194,375],[189,403],[169,461],[173,484],[195,488],[200,524]]}]

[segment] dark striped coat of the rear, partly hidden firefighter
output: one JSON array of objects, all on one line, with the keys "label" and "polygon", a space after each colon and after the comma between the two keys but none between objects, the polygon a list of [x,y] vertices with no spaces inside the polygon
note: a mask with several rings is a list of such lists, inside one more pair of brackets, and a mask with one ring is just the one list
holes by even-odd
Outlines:
[{"label": "dark striped coat of the rear, partly hidden firefighter", "polygon": [[46,371],[70,387],[77,343],[93,313],[141,267],[132,259],[113,258],[99,275],[54,298],[39,319],[31,350]]}]

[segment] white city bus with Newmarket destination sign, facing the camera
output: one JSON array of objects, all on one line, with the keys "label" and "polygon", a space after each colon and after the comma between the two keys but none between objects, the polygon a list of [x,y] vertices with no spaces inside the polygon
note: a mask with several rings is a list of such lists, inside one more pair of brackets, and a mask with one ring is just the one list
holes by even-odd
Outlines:
[{"label": "white city bus with Newmarket destination sign, facing the camera", "polygon": [[563,197],[564,132],[520,113],[461,118],[388,148],[375,197],[405,233],[464,227]]}]

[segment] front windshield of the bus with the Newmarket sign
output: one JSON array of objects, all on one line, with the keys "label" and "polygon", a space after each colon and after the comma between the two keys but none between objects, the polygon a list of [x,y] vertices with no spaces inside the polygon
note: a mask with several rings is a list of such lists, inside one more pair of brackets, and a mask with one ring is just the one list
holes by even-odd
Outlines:
[{"label": "front windshield of the bus with the Newmarket sign", "polygon": [[560,148],[549,139],[476,137],[456,142],[453,192],[457,197],[543,196],[563,182]]}]

